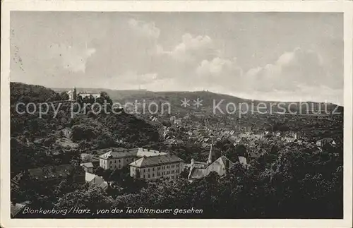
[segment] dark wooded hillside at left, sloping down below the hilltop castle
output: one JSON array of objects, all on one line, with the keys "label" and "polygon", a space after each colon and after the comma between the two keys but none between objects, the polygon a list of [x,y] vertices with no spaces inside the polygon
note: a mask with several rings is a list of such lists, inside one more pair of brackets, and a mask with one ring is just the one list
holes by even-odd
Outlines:
[{"label": "dark wooded hillside at left, sloping down below the hilltop castle", "polygon": [[[71,118],[71,104],[63,102],[55,116],[49,102],[49,112],[40,116],[39,103],[51,100],[64,99],[42,86],[11,83],[11,174],[76,159],[79,162],[80,152],[117,146],[118,141],[142,146],[159,140],[155,126],[130,114],[79,114]],[[21,107],[20,114],[17,102],[33,102],[37,110],[30,114]],[[57,109],[57,104],[54,107]]]}]

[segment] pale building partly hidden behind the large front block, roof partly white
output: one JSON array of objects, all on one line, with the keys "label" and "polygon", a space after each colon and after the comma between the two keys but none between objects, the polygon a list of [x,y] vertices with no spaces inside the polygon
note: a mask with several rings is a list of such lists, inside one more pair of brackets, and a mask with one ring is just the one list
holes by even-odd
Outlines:
[{"label": "pale building partly hidden behind the large front block, roof partly white", "polygon": [[100,167],[103,169],[122,169],[140,157],[167,155],[165,152],[143,148],[109,148],[103,155],[100,155]]}]

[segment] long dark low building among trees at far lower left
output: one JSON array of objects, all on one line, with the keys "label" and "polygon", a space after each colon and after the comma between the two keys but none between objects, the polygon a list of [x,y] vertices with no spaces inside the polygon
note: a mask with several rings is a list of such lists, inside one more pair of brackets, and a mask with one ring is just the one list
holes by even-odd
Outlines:
[{"label": "long dark low building among trees at far lower left", "polygon": [[59,184],[71,175],[73,181],[76,183],[85,183],[85,172],[82,167],[74,167],[71,164],[61,164],[55,167],[40,167],[21,172],[13,177],[11,180],[11,186],[18,187],[23,178],[29,178],[31,181],[40,184]]}]

